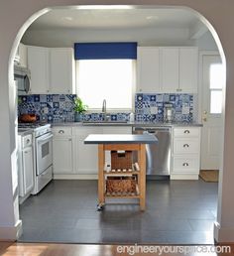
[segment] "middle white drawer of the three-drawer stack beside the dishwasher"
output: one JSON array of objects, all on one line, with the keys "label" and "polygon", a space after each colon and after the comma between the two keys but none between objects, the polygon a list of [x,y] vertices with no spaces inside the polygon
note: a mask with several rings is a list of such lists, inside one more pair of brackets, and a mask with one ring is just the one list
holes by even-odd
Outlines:
[{"label": "middle white drawer of the three-drawer stack beside the dishwasher", "polygon": [[174,154],[199,153],[198,139],[175,139]]}]

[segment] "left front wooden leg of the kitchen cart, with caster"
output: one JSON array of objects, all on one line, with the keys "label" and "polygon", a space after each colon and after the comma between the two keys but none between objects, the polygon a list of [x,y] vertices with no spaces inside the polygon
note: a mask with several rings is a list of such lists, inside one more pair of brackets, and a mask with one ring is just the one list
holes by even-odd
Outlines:
[{"label": "left front wooden leg of the kitchen cart, with caster", "polygon": [[98,210],[101,210],[103,205],[105,204],[104,164],[105,164],[104,145],[99,144],[98,145],[98,205],[97,205]]}]

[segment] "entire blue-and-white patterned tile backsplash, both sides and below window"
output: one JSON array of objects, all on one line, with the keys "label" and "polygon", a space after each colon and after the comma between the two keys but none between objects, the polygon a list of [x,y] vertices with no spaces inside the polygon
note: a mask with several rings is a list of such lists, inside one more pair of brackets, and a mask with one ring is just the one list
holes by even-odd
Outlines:
[{"label": "entire blue-and-white patterned tile backsplash, both sides and below window", "polygon": [[[75,94],[35,94],[18,97],[18,115],[36,114],[38,121],[73,122],[73,99]],[[175,121],[193,120],[193,94],[153,94],[137,93],[135,96],[136,121],[164,121],[165,104],[171,103],[175,109]],[[129,121],[130,113],[109,113],[112,121]],[[101,121],[102,113],[85,113],[82,121]]]}]

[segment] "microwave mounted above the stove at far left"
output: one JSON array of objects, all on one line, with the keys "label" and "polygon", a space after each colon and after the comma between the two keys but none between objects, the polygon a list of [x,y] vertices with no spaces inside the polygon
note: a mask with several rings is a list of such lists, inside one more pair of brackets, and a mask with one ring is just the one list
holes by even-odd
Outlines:
[{"label": "microwave mounted above the stove at far left", "polygon": [[14,79],[17,81],[19,95],[29,93],[31,85],[31,73],[27,67],[15,64]]}]

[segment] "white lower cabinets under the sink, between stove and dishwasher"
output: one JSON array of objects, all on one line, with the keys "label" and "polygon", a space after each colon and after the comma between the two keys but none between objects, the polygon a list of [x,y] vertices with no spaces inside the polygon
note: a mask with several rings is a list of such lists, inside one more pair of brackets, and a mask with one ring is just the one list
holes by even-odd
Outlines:
[{"label": "white lower cabinets under the sink, between stove and dishwasher", "polygon": [[95,179],[98,172],[98,146],[85,145],[89,134],[131,134],[131,126],[73,126],[53,128],[55,179]]}]

